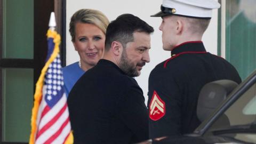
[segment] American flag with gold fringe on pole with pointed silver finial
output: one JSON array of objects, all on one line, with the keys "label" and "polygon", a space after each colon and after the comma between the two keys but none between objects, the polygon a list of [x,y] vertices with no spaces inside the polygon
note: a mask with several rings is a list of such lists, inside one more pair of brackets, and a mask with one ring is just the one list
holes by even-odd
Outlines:
[{"label": "American flag with gold fringe on pole with pointed silver finial", "polygon": [[[48,43],[48,52],[45,66],[41,71],[41,75],[38,78],[36,83],[36,90],[34,95],[34,107],[32,109],[32,116],[31,116],[31,133],[29,143],[51,143],[58,141],[59,143],[70,144],[74,142],[73,134],[71,132],[71,126],[69,117],[66,118],[65,121],[60,121],[62,123],[50,123],[50,121],[55,121],[53,117],[46,117],[46,114],[52,115],[52,108],[54,106],[63,106],[62,108],[67,108],[67,98],[65,92],[63,90],[63,77],[61,72],[61,65],[59,59],[59,45],[60,45],[60,35],[55,31],[56,21],[54,12],[51,13],[50,21],[49,21],[49,29],[47,30],[47,43]],[[54,63],[55,67],[52,67],[52,63]],[[49,69],[49,71],[48,71]],[[52,71],[52,69],[54,70]],[[57,70],[58,69],[58,70]],[[50,72],[51,71],[51,72]],[[59,72],[57,72],[59,71]],[[57,81],[56,78],[52,77],[52,73],[59,75],[59,83],[55,83],[55,86],[59,86],[60,90],[55,90],[55,95],[58,97],[52,97],[52,89],[47,91],[48,87],[52,87],[54,83],[52,81]],[[62,77],[62,78],[61,78]],[[43,88],[44,87],[44,88]],[[51,99],[55,98],[56,101],[50,101]],[[62,100],[60,100],[62,99]],[[52,103],[51,103],[52,102]],[[58,103],[58,104],[57,104]],[[56,108],[56,107],[55,107]],[[59,109],[60,111],[62,110]],[[60,111],[58,113],[60,113]],[[68,110],[63,111],[60,113],[61,116],[67,116]],[[59,120],[60,116],[58,116]],[[57,121],[58,121],[57,120]],[[63,120],[63,119],[62,119]],[[57,122],[56,121],[56,122]],[[59,129],[55,129],[57,124]],[[46,126],[47,125],[47,126]],[[45,129],[45,126],[47,130]],[[53,126],[53,128],[52,128]],[[55,127],[54,127],[55,126]]]}]

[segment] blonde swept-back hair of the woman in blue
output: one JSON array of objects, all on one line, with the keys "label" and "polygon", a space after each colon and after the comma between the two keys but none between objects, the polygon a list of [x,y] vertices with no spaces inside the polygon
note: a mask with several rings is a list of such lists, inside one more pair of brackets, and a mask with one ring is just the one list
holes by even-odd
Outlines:
[{"label": "blonde swept-back hair of the woman in blue", "polygon": [[90,23],[99,27],[106,35],[106,29],[109,24],[109,20],[105,14],[98,10],[81,9],[75,12],[69,23],[69,33],[71,35],[71,41],[75,42],[75,25],[77,22]]}]

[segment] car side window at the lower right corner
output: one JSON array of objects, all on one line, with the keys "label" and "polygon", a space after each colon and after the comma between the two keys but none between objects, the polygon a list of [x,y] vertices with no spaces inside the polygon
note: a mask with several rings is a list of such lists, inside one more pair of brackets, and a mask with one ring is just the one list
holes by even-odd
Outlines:
[{"label": "car side window at the lower right corner", "polygon": [[[213,123],[206,133],[225,134],[236,140],[256,143],[256,84],[252,85]],[[237,131],[241,130],[241,131]]]}]

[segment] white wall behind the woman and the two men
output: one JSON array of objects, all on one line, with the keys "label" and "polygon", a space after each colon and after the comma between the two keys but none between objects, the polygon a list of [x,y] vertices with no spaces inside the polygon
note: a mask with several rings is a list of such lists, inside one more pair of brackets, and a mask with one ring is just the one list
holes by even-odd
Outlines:
[{"label": "white wall behind the woman and the two men", "polygon": [[[161,24],[161,18],[153,18],[150,15],[160,11],[161,0],[148,1],[148,0],[67,0],[67,65],[79,60],[77,52],[74,50],[73,44],[71,43],[71,37],[69,34],[69,21],[71,15],[79,9],[96,9],[103,12],[110,21],[115,20],[116,17],[123,13],[131,13],[146,21],[150,26],[154,27],[155,32],[151,35],[151,49],[150,49],[150,62],[143,67],[141,75],[136,77],[137,82],[143,90],[145,99],[147,102],[148,92],[148,77],[150,71],[159,63],[165,59],[170,58],[171,52],[164,51],[162,49],[162,33],[158,30]],[[210,26],[207,29],[203,37],[204,45],[207,51],[216,54],[217,53],[217,10],[213,12],[213,18]]]}]

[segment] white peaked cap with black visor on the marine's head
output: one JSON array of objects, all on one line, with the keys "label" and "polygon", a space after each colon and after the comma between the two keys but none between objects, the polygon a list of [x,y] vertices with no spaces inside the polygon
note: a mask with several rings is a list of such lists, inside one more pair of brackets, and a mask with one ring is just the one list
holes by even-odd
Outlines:
[{"label": "white peaked cap with black visor on the marine's head", "polygon": [[166,15],[180,15],[183,17],[205,18],[212,17],[212,9],[219,9],[216,0],[163,0],[161,12],[151,17],[164,17]]}]

